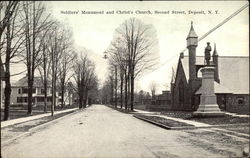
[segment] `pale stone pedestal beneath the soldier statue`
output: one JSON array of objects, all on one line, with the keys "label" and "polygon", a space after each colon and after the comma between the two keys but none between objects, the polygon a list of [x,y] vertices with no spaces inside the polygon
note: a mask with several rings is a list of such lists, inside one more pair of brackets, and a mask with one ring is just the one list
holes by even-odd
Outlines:
[{"label": "pale stone pedestal beneath the soldier statue", "polygon": [[200,96],[200,105],[194,116],[223,116],[214,94],[214,70],[212,66],[206,66],[201,69],[202,73],[202,94]]}]

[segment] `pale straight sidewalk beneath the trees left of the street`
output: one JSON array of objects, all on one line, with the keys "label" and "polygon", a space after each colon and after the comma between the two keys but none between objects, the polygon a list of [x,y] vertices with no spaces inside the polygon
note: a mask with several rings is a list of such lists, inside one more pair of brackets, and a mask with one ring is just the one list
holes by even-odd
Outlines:
[{"label": "pale straight sidewalk beneath the trees left of the street", "polygon": [[[67,109],[67,110],[62,110],[62,111],[55,111],[54,115],[65,113],[65,112],[70,112],[70,111],[75,111],[77,109],[78,108]],[[23,123],[23,122],[30,121],[30,120],[39,119],[39,118],[42,118],[42,117],[45,117],[45,116],[50,116],[50,115],[51,115],[51,113],[46,113],[46,114],[41,114],[41,115],[35,115],[35,116],[23,117],[23,118],[8,120],[8,121],[2,121],[1,122],[1,128],[9,126],[9,125]]]}]

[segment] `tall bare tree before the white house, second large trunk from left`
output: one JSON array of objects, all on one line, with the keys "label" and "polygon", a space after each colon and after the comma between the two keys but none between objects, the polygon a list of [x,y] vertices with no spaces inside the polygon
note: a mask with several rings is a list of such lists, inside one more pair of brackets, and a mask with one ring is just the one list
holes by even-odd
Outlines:
[{"label": "tall bare tree before the white house, second large trunk from left", "polygon": [[50,14],[46,14],[42,2],[23,2],[24,26],[25,26],[25,47],[28,75],[28,114],[32,113],[32,91],[34,83],[34,72],[41,62],[39,54],[42,48],[42,41],[46,34],[44,30],[51,26]]}]

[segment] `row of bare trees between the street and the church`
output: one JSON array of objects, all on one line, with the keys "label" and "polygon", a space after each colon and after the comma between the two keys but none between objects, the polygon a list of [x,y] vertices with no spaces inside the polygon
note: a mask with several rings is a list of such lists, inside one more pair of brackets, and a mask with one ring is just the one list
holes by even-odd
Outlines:
[{"label": "row of bare trees between the street and the church", "polygon": [[121,108],[125,104],[125,109],[134,109],[135,80],[156,65],[159,59],[157,44],[154,27],[139,19],[130,18],[115,30],[105,55],[111,71],[103,86],[104,89],[111,89],[111,98],[115,94],[115,105],[119,80]]}]

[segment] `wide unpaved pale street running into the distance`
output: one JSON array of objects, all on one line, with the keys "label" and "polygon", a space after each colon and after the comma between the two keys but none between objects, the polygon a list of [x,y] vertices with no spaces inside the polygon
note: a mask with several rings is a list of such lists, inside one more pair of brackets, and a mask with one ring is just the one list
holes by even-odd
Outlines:
[{"label": "wide unpaved pale street running into the distance", "polygon": [[92,105],[3,146],[1,154],[3,158],[207,158],[239,156],[249,143],[236,137],[222,139],[220,133],[202,129],[166,130],[131,114]]}]

